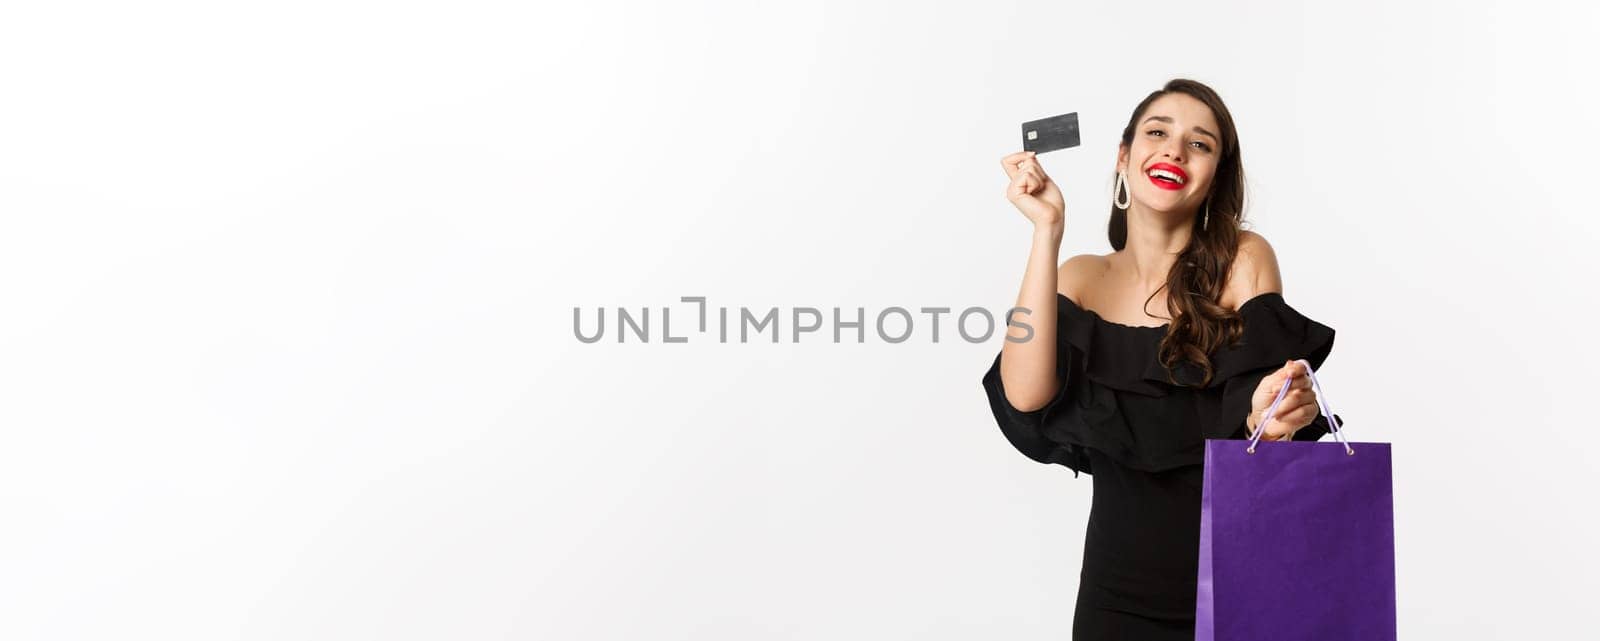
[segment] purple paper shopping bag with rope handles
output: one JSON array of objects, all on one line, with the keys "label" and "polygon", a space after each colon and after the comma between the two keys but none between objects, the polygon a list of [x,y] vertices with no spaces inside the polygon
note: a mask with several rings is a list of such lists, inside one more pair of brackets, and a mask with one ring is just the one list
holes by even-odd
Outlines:
[{"label": "purple paper shopping bag with rope handles", "polygon": [[1299,363],[1338,443],[1206,440],[1197,641],[1395,638],[1389,443],[1346,441]]}]

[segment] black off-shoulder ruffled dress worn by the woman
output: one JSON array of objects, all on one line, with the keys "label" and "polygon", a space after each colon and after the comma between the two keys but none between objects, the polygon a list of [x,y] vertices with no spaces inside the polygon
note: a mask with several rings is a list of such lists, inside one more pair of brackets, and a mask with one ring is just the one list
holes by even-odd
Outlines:
[{"label": "black off-shoulder ruffled dress worn by the woman", "polygon": [[[998,355],[982,382],[1000,432],[1018,451],[1093,476],[1072,638],[1190,641],[1205,440],[1246,438],[1250,396],[1261,379],[1293,358],[1320,368],[1333,329],[1278,293],[1258,294],[1238,309],[1243,337],[1211,355],[1213,379],[1198,387],[1202,372],[1192,363],[1168,380],[1157,356],[1166,324],[1112,323],[1061,294],[1056,310],[1061,390],[1050,404],[1013,408]],[[1326,433],[1328,419],[1318,416],[1294,440]]]}]

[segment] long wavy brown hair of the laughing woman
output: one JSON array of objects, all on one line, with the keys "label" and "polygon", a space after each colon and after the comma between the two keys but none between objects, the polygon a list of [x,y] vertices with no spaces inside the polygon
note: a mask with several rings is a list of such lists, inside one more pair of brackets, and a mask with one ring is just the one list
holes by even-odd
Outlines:
[{"label": "long wavy brown hair of the laughing woman", "polygon": [[[1205,205],[1195,213],[1192,221],[1194,233],[1189,245],[1178,254],[1178,262],[1166,273],[1166,312],[1173,321],[1162,337],[1158,358],[1166,368],[1166,377],[1174,385],[1173,368],[1187,360],[1203,372],[1200,385],[1208,385],[1214,376],[1211,353],[1222,345],[1237,344],[1243,336],[1243,320],[1238,312],[1222,307],[1222,286],[1227,273],[1238,254],[1240,221],[1245,211],[1245,166],[1238,158],[1238,129],[1234,128],[1234,117],[1222,104],[1222,98],[1210,86],[1194,80],[1174,78],[1160,90],[1150,93],[1133,109],[1128,126],[1122,129],[1122,145],[1133,147],[1133,134],[1139,118],[1155,102],[1157,98],[1170,93],[1190,96],[1216,117],[1216,125],[1222,131],[1222,155],[1218,160],[1216,177],[1211,181],[1211,193]],[[1120,197],[1120,195],[1118,195]],[[1202,229],[1202,219],[1210,208],[1211,219]],[[1122,251],[1128,245],[1128,213],[1110,208],[1110,224],[1106,229],[1112,249]],[[1157,289],[1160,291],[1160,289]],[[1146,304],[1155,297],[1144,299]]]}]

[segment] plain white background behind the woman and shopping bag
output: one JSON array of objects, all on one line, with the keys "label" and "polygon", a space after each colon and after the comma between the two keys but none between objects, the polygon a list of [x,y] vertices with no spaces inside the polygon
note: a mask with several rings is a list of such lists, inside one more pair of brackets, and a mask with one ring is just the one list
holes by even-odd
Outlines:
[{"label": "plain white background behind the woman and shopping bag", "polygon": [[573,309],[1000,313],[1018,123],[1080,113],[1104,254],[1173,77],[1394,443],[1402,636],[1582,635],[1597,16],[1482,5],[11,3],[0,636],[1067,638],[1091,478],[1002,438],[998,336]]}]

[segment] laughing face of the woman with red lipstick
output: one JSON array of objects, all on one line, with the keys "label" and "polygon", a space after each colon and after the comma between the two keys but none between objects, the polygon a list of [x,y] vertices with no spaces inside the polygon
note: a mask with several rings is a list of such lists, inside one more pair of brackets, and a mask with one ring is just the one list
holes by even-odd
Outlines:
[{"label": "laughing face of the woman with red lipstick", "polygon": [[1133,147],[1118,147],[1133,200],[1154,211],[1198,211],[1222,153],[1219,131],[1211,107],[1192,96],[1150,102],[1133,126]]}]

